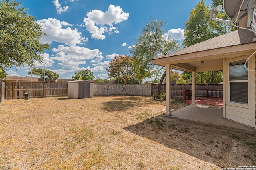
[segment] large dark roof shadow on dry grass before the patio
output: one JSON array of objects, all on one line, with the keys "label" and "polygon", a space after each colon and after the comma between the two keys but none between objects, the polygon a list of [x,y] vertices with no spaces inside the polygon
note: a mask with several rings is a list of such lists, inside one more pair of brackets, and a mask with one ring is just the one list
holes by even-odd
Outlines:
[{"label": "large dark roof shadow on dry grass before the patio", "polygon": [[[234,143],[244,145],[242,139],[255,140],[252,136],[242,133],[236,133],[240,139],[234,139],[230,135],[234,134],[233,132],[176,120],[166,117],[164,114],[152,118],[141,115],[137,118],[143,121],[124,129],[219,167],[225,166],[225,164],[234,164],[230,160],[237,160],[238,156],[243,157],[241,155],[248,154],[246,145],[243,146],[245,151],[234,154],[230,149]],[[256,152],[256,148],[253,152]],[[252,156],[253,154],[250,155],[250,157]],[[237,161],[236,163],[243,163],[242,159],[241,162]]]}]

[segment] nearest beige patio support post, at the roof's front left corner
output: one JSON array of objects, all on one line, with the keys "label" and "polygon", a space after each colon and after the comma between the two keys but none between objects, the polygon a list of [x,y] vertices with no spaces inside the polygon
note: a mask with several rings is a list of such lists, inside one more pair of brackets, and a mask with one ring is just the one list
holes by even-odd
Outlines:
[{"label": "nearest beige patio support post, at the roof's front left corner", "polygon": [[172,115],[171,112],[171,76],[170,76],[170,69],[171,65],[165,65],[166,69],[166,115],[170,116]]}]

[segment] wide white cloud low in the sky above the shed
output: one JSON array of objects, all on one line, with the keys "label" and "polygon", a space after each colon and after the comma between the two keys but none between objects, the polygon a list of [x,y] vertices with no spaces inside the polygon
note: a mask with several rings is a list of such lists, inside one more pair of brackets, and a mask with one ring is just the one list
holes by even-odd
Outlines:
[{"label": "wide white cloud low in the sky above the shed", "polygon": [[68,69],[71,71],[80,70],[80,64],[86,64],[86,60],[91,60],[96,62],[100,62],[104,57],[102,56],[102,52],[98,49],[88,49],[85,47],[79,46],[64,46],[59,45],[58,48],[53,48],[52,51],[57,54],[54,57],[50,57],[52,60],[59,61],[58,64],[62,66],[62,69]]}]

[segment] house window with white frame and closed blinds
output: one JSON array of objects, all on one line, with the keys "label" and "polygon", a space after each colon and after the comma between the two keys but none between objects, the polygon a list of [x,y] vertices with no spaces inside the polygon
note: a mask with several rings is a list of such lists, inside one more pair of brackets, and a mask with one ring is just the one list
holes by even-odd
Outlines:
[{"label": "house window with white frame and closed blinds", "polygon": [[[244,68],[246,60],[228,64],[229,101],[248,104],[248,71]],[[248,63],[246,63],[248,68]]]}]

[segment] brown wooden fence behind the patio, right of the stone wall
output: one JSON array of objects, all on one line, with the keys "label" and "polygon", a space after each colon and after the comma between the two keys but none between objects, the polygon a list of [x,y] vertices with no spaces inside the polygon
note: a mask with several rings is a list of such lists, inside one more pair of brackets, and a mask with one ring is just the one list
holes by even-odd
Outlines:
[{"label": "brown wooden fence behind the patio, right of the stone wall", "polygon": [[[196,84],[196,97],[223,98],[223,84]],[[191,98],[192,84],[171,84],[171,97]],[[151,95],[158,92],[158,84],[152,84]],[[162,92],[166,92],[166,84],[162,84]]]}]

